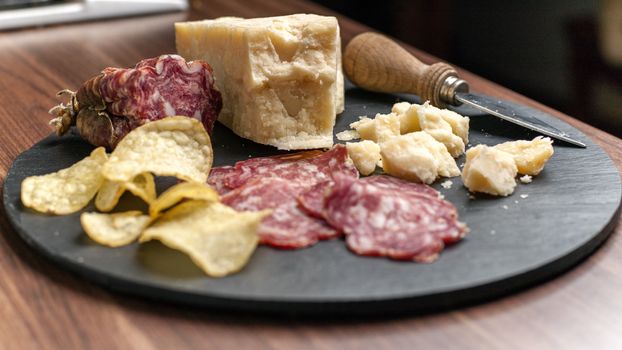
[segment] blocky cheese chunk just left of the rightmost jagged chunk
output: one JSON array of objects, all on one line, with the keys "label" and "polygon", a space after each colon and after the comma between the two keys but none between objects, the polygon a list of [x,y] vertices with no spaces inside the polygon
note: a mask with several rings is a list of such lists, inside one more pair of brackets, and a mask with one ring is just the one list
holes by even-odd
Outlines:
[{"label": "blocky cheese chunk just left of the rightmost jagged chunk", "polygon": [[462,182],[471,192],[508,196],[516,187],[516,164],[511,154],[477,145],[466,152]]}]

